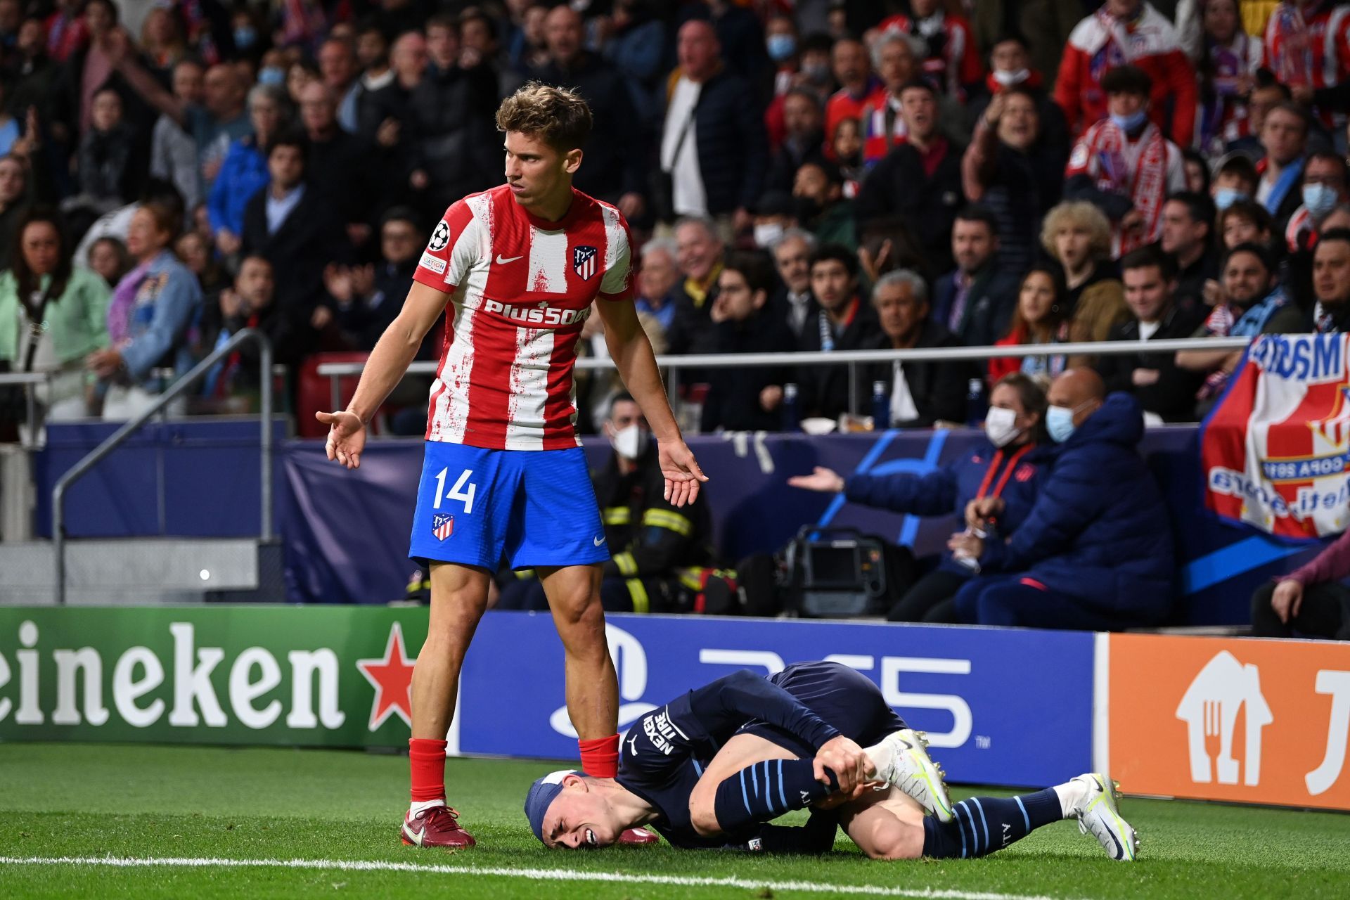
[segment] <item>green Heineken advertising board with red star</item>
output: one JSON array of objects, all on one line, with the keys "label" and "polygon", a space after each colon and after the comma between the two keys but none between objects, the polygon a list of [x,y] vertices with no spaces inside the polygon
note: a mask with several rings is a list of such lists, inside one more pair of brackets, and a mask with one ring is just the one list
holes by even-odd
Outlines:
[{"label": "green Heineken advertising board with red star", "polygon": [[0,739],[404,746],[421,607],[0,607]]}]

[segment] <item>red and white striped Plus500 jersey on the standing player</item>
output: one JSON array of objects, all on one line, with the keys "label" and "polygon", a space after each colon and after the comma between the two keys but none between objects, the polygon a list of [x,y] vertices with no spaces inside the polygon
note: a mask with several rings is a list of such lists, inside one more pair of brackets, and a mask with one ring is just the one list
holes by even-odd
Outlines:
[{"label": "red and white striped Plus500 jersey on the standing player", "polygon": [[506,185],[446,210],[413,278],[450,294],[427,440],[578,447],[572,363],[591,302],[632,302],[628,223],[579,190],[560,221]]}]

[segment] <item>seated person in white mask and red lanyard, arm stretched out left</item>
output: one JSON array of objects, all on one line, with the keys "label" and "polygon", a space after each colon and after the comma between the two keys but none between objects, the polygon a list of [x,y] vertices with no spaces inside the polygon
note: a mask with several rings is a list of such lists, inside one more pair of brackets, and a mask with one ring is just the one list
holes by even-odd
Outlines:
[{"label": "seated person in white mask and red lanyard, arm stretched out left", "polygon": [[[852,475],[848,479],[817,466],[810,475],[787,479],[792,487],[842,494],[849,502],[909,515],[954,515],[956,528],[1003,537],[1017,533],[1050,474],[1054,449],[1045,433],[1045,391],[1027,375],[1011,374],[990,391],[980,444],[927,475]],[[998,514],[979,518],[975,505],[1002,501]],[[967,518],[969,510],[971,518]],[[945,621],[950,598],[973,576],[944,551],[938,564],[898,598],[891,622]]]}]

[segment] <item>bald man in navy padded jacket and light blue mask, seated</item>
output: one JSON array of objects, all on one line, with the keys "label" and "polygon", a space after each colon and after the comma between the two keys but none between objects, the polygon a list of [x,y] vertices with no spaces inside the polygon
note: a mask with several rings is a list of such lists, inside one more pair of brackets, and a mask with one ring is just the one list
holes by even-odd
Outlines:
[{"label": "bald man in navy padded jacket and light blue mask, seated", "polygon": [[952,538],[988,575],[957,592],[956,613],[979,625],[1156,625],[1172,609],[1173,545],[1162,494],[1137,449],[1139,403],[1107,397],[1085,368],[1056,378],[1049,401],[1046,426],[1062,449],[1026,521],[1007,542]]}]

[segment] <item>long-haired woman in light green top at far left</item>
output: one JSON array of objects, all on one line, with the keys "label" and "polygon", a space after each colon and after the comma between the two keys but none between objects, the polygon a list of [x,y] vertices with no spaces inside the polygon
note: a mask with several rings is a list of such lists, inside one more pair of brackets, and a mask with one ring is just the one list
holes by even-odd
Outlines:
[{"label": "long-haired woman in light green top at far left", "polygon": [[59,216],[36,208],[19,221],[12,264],[0,273],[0,360],[54,374],[36,394],[47,421],[93,412],[85,356],[108,345],[108,285],[70,258]]}]

